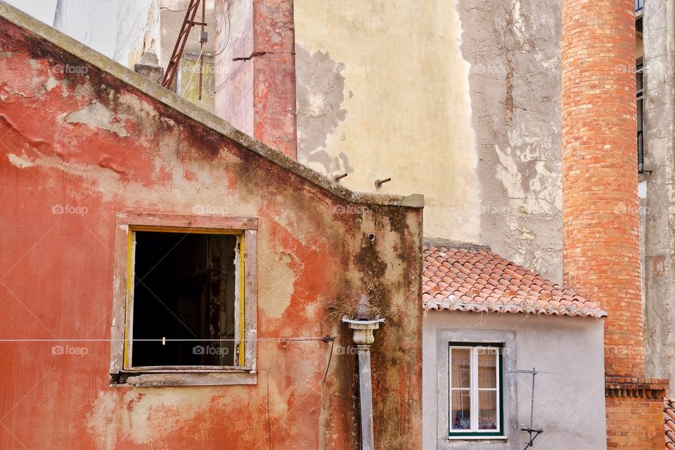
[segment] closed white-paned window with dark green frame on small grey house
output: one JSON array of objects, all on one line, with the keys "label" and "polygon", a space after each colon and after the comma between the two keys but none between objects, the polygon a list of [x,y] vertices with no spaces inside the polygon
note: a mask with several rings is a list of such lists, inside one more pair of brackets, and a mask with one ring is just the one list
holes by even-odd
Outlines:
[{"label": "closed white-paned window with dark green frame on small grey house", "polygon": [[[449,437],[502,437],[503,413],[503,346],[479,342],[450,342],[448,347]],[[491,371],[480,371],[494,357],[494,378]],[[491,367],[488,365],[488,367]],[[490,380],[484,385],[480,380]],[[490,393],[494,392],[494,395]],[[484,404],[494,406],[486,411]],[[468,415],[467,415],[468,411]],[[494,428],[493,428],[494,427]]]}]

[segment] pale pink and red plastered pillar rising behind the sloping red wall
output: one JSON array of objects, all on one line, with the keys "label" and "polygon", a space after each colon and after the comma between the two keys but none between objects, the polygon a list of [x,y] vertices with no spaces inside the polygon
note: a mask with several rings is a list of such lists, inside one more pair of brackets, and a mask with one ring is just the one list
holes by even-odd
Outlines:
[{"label": "pale pink and red plastered pillar rising behind the sloping red wall", "polygon": [[215,113],[297,159],[293,0],[215,0]]}]

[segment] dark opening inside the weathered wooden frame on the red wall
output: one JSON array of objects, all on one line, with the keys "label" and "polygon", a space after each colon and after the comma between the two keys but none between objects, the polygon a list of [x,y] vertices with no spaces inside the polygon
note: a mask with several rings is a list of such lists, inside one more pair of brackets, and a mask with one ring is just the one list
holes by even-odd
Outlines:
[{"label": "dark opening inside the weathered wooden frame on the red wall", "polygon": [[240,237],[134,236],[131,366],[236,366]]}]

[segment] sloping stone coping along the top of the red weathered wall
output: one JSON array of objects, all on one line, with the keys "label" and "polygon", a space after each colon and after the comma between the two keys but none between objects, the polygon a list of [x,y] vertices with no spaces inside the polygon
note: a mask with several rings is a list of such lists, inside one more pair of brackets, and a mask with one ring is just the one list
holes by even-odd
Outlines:
[{"label": "sloping stone coping along the top of the red weathered wall", "polygon": [[160,84],[150,81],[150,79],[137,74],[134,70],[117,63],[115,60],[108,58],[102,53],[98,53],[98,51],[91,49],[89,46],[76,41],[67,34],[42,23],[40,20],[37,20],[31,15],[20,11],[18,8],[15,8],[2,0],[0,0],[0,17],[28,32],[36,34],[42,39],[49,41],[51,44],[58,46],[60,49],[67,51],[72,56],[82,59],[84,62],[93,65],[99,70],[120,79],[134,89],[143,92],[143,94],[169,106],[169,108],[173,108],[179,113],[195,120],[195,122],[203,124],[205,127],[216,131],[231,141],[248,148],[252,152],[257,153],[257,155],[262,156],[262,158],[274,162],[276,165],[287,169],[289,172],[293,172],[297,176],[306,179],[311,184],[322,188],[324,191],[328,191],[338,198],[342,198],[342,200],[361,205],[401,206],[411,208],[424,207],[424,196],[422,194],[411,194],[406,196],[351,191],[350,189],[345,188],[345,186],[341,186],[334,180],[328,178],[328,176],[316,172],[314,169],[310,169],[302,163],[297,162],[292,158],[288,158],[288,156],[281,153],[281,151],[267,146],[252,136],[248,136],[248,134],[234,128],[229,122],[221,117],[200,108],[191,101],[163,88]]}]

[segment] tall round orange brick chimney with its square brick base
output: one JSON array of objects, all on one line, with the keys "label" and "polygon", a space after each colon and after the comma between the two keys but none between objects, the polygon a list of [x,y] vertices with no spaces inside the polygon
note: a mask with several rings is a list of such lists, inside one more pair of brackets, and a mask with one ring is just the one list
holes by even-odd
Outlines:
[{"label": "tall round orange brick chimney with its square brick base", "polygon": [[608,448],[662,449],[666,380],[644,363],[634,0],[563,0],[562,58],[563,281],[608,311]]}]

